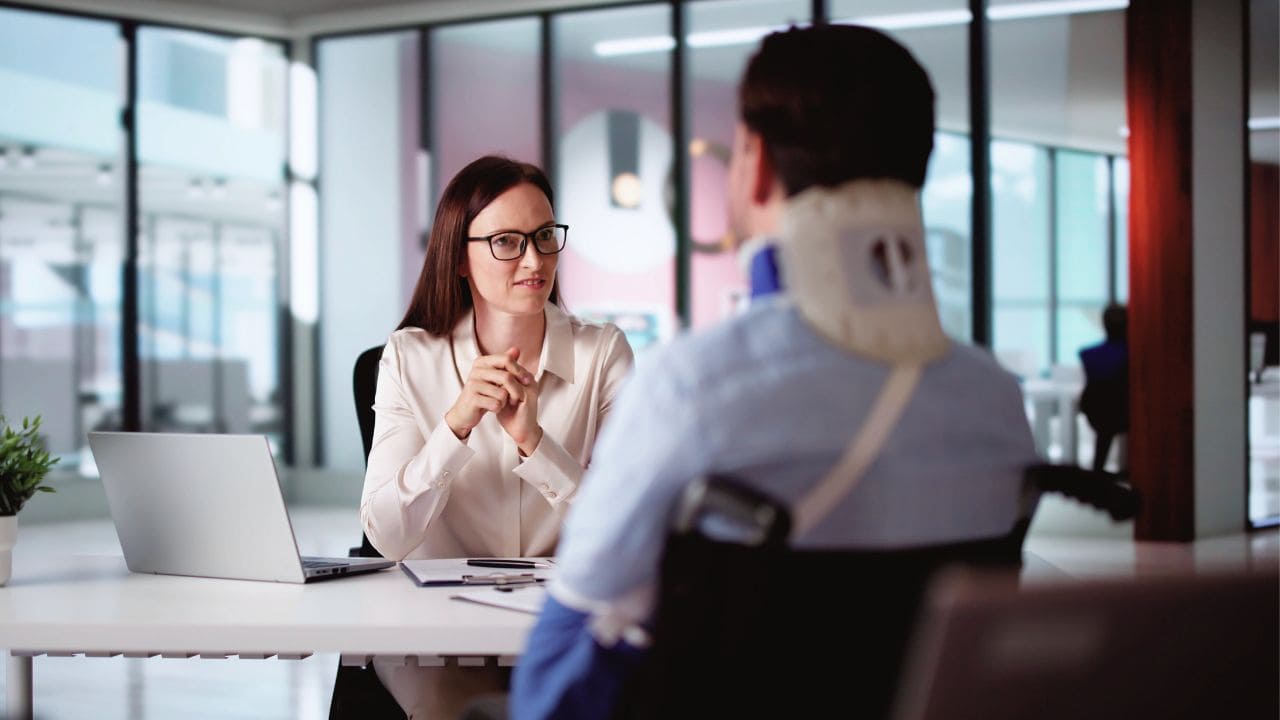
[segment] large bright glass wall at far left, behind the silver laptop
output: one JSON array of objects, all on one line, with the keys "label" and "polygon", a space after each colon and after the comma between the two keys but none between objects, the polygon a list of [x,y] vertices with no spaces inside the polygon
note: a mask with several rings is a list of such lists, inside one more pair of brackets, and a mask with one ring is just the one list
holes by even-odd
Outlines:
[{"label": "large bright glass wall at far left, behind the silver laptop", "polygon": [[0,415],[41,415],[59,474],[96,473],[97,429],[285,446],[285,72],[279,42],[0,9]]}]

